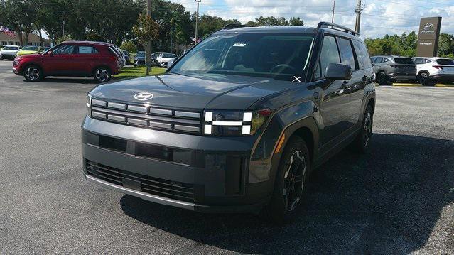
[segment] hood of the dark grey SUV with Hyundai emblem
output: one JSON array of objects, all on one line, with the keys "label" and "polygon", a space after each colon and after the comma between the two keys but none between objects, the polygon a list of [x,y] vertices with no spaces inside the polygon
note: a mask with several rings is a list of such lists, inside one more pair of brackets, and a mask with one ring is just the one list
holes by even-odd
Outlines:
[{"label": "hood of the dark grey SUV with Hyundai emblem", "polygon": [[[166,74],[119,80],[95,87],[90,94],[97,99],[135,102],[185,109],[248,109],[257,100],[295,83],[264,77],[210,75],[210,77]],[[134,99],[141,92],[153,94],[149,101]]]}]

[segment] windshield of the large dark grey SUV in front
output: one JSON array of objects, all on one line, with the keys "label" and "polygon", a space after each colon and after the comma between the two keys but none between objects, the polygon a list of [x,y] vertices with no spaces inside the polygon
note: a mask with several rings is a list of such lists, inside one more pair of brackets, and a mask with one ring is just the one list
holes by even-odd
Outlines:
[{"label": "windshield of the large dark grey SUV in front", "polygon": [[170,72],[288,80],[301,76],[312,44],[313,36],[301,33],[221,33],[195,46]]}]

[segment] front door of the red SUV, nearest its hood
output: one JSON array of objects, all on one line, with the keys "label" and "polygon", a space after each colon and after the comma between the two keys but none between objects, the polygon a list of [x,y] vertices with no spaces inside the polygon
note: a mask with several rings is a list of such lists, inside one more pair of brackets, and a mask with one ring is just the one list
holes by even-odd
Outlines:
[{"label": "front door of the red SUV, nearest its hood", "polygon": [[43,70],[46,75],[69,75],[74,69],[75,45],[63,44],[44,56]]}]

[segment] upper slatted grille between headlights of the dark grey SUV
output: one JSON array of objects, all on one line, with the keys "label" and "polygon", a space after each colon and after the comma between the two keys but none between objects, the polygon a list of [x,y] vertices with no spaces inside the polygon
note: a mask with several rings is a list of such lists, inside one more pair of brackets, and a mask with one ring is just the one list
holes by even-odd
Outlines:
[{"label": "upper slatted grille between headlights of the dark grey SUV", "polygon": [[150,107],[147,104],[122,104],[99,99],[91,99],[90,116],[128,126],[190,134],[200,134],[202,126],[200,112]]}]

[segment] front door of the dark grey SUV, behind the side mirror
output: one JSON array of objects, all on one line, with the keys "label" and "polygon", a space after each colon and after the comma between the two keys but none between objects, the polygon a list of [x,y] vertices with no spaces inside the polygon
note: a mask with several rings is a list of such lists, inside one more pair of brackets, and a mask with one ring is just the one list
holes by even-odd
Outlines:
[{"label": "front door of the dark grey SUV, behind the side mirror", "polygon": [[[326,67],[330,63],[340,63],[339,49],[334,36],[323,38],[318,75],[315,78],[324,79]],[[349,95],[345,88],[349,85],[347,80],[325,80],[321,86],[320,114],[323,119],[323,130],[320,132],[320,151],[333,148],[342,141],[342,134],[347,131],[349,124]]]}]

